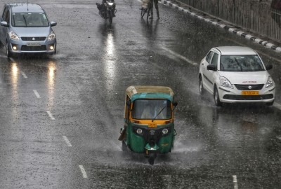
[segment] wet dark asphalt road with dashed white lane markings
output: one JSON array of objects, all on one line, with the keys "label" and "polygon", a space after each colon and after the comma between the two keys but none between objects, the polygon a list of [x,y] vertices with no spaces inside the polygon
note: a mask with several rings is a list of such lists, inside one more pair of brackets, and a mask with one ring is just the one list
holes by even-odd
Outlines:
[{"label": "wet dark asphalt road with dashed white lane markings", "polygon": [[[280,55],[161,4],[147,25],[140,1],[117,1],[110,26],[96,2],[37,1],[58,22],[57,55],[1,48],[1,188],[280,188]],[[273,64],[273,107],[200,97],[199,62],[217,45]],[[176,93],[175,147],[154,166],[117,140],[129,85]]]}]

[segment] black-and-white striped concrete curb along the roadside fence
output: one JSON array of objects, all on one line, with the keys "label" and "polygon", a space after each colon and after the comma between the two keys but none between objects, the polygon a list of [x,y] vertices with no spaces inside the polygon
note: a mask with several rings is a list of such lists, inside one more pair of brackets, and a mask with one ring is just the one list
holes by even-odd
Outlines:
[{"label": "black-and-white striped concrete curb along the roadside fence", "polygon": [[263,41],[261,38],[258,38],[256,36],[252,36],[251,34],[247,34],[246,32],[236,28],[236,27],[230,27],[228,25],[221,24],[219,22],[216,22],[214,20],[211,20],[211,18],[205,18],[203,15],[199,15],[196,12],[192,12],[192,10],[185,9],[181,6],[178,6],[176,3],[171,3],[171,1],[161,0],[161,3],[163,3],[166,6],[170,6],[171,8],[175,8],[179,11],[182,11],[183,13],[188,13],[195,18],[199,18],[200,20],[204,20],[205,22],[210,22],[212,25],[216,25],[218,27],[221,27],[222,29],[226,29],[230,31],[233,34],[237,34],[238,36],[242,36],[250,41],[254,41],[254,43],[259,43],[266,48],[270,48],[272,50],[275,50],[275,52],[281,52],[281,47],[278,47],[277,45],[274,45],[272,43],[269,43],[268,41]]}]

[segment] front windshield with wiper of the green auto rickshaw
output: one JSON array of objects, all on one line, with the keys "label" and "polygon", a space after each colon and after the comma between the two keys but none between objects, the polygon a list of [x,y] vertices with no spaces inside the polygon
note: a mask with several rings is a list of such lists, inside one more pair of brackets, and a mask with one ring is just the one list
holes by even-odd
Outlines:
[{"label": "front windshield with wiper of the green auto rickshaw", "polygon": [[132,117],[140,120],[171,119],[171,102],[166,99],[137,99],[133,102]]}]

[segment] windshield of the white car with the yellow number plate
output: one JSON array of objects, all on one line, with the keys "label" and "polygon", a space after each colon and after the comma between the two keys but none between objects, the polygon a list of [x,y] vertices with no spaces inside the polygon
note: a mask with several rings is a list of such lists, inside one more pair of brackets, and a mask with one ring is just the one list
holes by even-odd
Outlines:
[{"label": "windshield of the white car with the yellow number plate", "polygon": [[264,71],[257,55],[222,55],[221,71]]}]

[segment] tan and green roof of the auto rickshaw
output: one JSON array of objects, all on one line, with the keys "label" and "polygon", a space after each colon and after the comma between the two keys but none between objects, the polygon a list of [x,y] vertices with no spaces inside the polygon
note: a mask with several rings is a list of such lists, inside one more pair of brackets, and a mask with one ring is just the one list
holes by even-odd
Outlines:
[{"label": "tan and green roof of the auto rickshaw", "polygon": [[173,102],[174,92],[170,87],[136,85],[126,89],[126,94],[133,102],[136,99],[169,99]]}]

